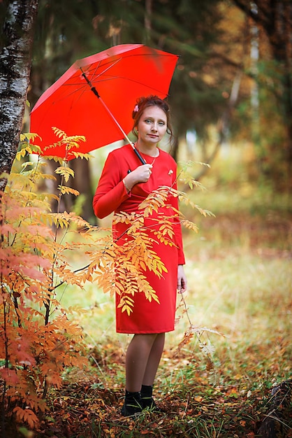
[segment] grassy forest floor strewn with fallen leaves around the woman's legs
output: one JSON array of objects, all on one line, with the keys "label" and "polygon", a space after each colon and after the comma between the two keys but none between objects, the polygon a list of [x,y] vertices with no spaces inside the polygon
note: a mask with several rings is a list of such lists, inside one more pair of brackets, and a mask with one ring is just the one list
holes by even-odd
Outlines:
[{"label": "grassy forest floor strewn with fallen leaves around the woman's legs", "polygon": [[[257,193],[247,206],[227,195],[235,213],[222,213],[216,193],[217,218],[197,239],[184,236],[188,310],[179,303],[156,376],[163,412],[121,416],[129,338],[115,334],[112,299],[68,288],[64,306],[86,310],[77,322],[89,365],[66,369],[62,387],[50,388],[36,430],[7,418],[6,438],[292,438],[292,211],[281,199],[272,209],[274,198],[264,208]],[[193,324],[203,328],[188,332]]]}]

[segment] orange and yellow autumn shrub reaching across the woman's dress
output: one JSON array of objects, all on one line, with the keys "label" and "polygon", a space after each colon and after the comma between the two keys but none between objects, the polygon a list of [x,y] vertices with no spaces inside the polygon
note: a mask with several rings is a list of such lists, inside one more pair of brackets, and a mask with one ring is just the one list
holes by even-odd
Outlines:
[{"label": "orange and yellow autumn shrub reaching across the woman's dress", "polygon": [[[59,136],[55,146],[66,145],[66,157],[71,157],[74,148],[74,156],[88,159],[76,152],[80,141],[84,141],[82,136],[68,137],[58,129],[54,132]],[[109,230],[92,227],[73,212],[52,213],[52,199],[60,205],[61,197],[78,196],[67,185],[74,173],[68,160],[61,160],[56,169],[61,176],[58,194],[39,192],[41,181],[55,177],[45,174],[44,157],[38,145],[33,144],[36,139],[34,134],[22,136],[17,160],[27,154],[34,154],[37,160],[23,163],[20,172],[13,171],[8,176],[6,190],[1,193],[0,213],[0,355],[4,359],[0,369],[1,409],[31,428],[38,423],[38,413],[46,409],[50,386],[61,386],[64,368],[87,364],[82,329],[70,320],[75,310],[62,308],[57,288],[63,284],[84,288],[87,281],[94,281],[103,292],[111,296],[117,293],[121,311],[131,315],[135,293],[143,291],[150,302],[159,302],[145,275],[147,270],[159,277],[166,272],[153,245],[174,244],[173,222],[197,230],[169,204],[171,197],[186,203],[187,197],[167,187],[150,194],[138,213],[116,215],[115,222],[124,223],[125,231],[114,240]],[[59,161],[53,156],[46,159]],[[166,217],[160,213],[161,207],[166,211],[173,209],[172,213]],[[208,214],[196,205],[194,208]],[[124,236],[127,241],[120,245]],[[87,257],[88,262],[73,269],[68,255],[78,251],[81,260]]]}]

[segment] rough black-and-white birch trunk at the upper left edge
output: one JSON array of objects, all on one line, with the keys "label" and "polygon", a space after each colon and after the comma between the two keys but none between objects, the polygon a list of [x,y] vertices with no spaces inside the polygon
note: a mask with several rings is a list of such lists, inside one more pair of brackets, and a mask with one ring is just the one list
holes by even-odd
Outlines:
[{"label": "rough black-and-white birch trunk at the upper left edge", "polygon": [[[31,49],[38,0],[9,0],[0,52],[0,178],[9,173],[17,153],[29,87]],[[0,179],[0,190],[6,178]]]}]

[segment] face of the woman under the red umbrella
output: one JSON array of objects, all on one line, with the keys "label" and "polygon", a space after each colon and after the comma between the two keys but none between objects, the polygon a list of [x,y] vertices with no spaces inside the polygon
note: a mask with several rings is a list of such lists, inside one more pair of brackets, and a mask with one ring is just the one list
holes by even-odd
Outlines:
[{"label": "face of the woman under the red umbrella", "polygon": [[138,141],[149,146],[159,143],[166,133],[166,113],[159,106],[148,106],[138,122]]}]

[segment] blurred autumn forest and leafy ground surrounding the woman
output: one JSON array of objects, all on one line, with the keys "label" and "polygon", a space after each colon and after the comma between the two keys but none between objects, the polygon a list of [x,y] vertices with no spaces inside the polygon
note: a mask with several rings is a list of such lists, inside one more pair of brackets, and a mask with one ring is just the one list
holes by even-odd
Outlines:
[{"label": "blurred autumn forest and leafy ground surrounding the woman", "polygon": [[[0,2],[3,29],[12,3],[17,1]],[[29,8],[29,2],[20,3]],[[194,163],[189,164],[191,178],[207,191],[189,192],[184,181],[180,188],[216,216],[194,216],[182,206],[199,232],[184,231],[189,292],[180,303],[177,331],[168,338],[158,376],[162,404],[171,414],[162,419],[146,415],[138,423],[119,421],[129,339],[114,333],[108,295],[88,285],[81,297],[69,286],[61,293],[62,306],[87,309],[74,318],[84,330],[92,367],[87,372],[66,367],[63,389],[49,392],[50,414],[31,433],[253,437],[265,418],[276,417],[277,433],[291,436],[286,411],[281,416],[269,410],[275,401],[270,388],[291,376],[291,2],[30,3],[38,6],[30,35],[32,67],[23,126],[19,117],[13,138],[17,129],[18,139],[21,129],[29,132],[30,108],[75,59],[119,43],[145,43],[176,53],[180,59],[169,101],[177,142],[170,153],[178,162]],[[12,81],[3,66],[1,103],[4,108],[9,98],[14,108],[15,99],[19,107],[19,97],[9,94]],[[9,148],[11,135],[3,119],[0,123],[1,170],[10,171],[18,141],[10,141]],[[61,209],[75,211],[92,225],[92,196],[110,148],[96,150],[92,160],[70,162],[72,187],[81,195],[62,197]],[[52,174],[56,168],[51,162]],[[20,169],[16,162],[13,172]],[[41,190],[49,192],[52,183]],[[57,185],[53,190],[57,193]],[[77,263],[74,256],[71,263]],[[189,332],[193,325],[196,330]],[[4,399],[2,412],[7,412]],[[34,421],[22,419],[17,433],[29,434]],[[7,428],[5,420],[1,425]]]}]

